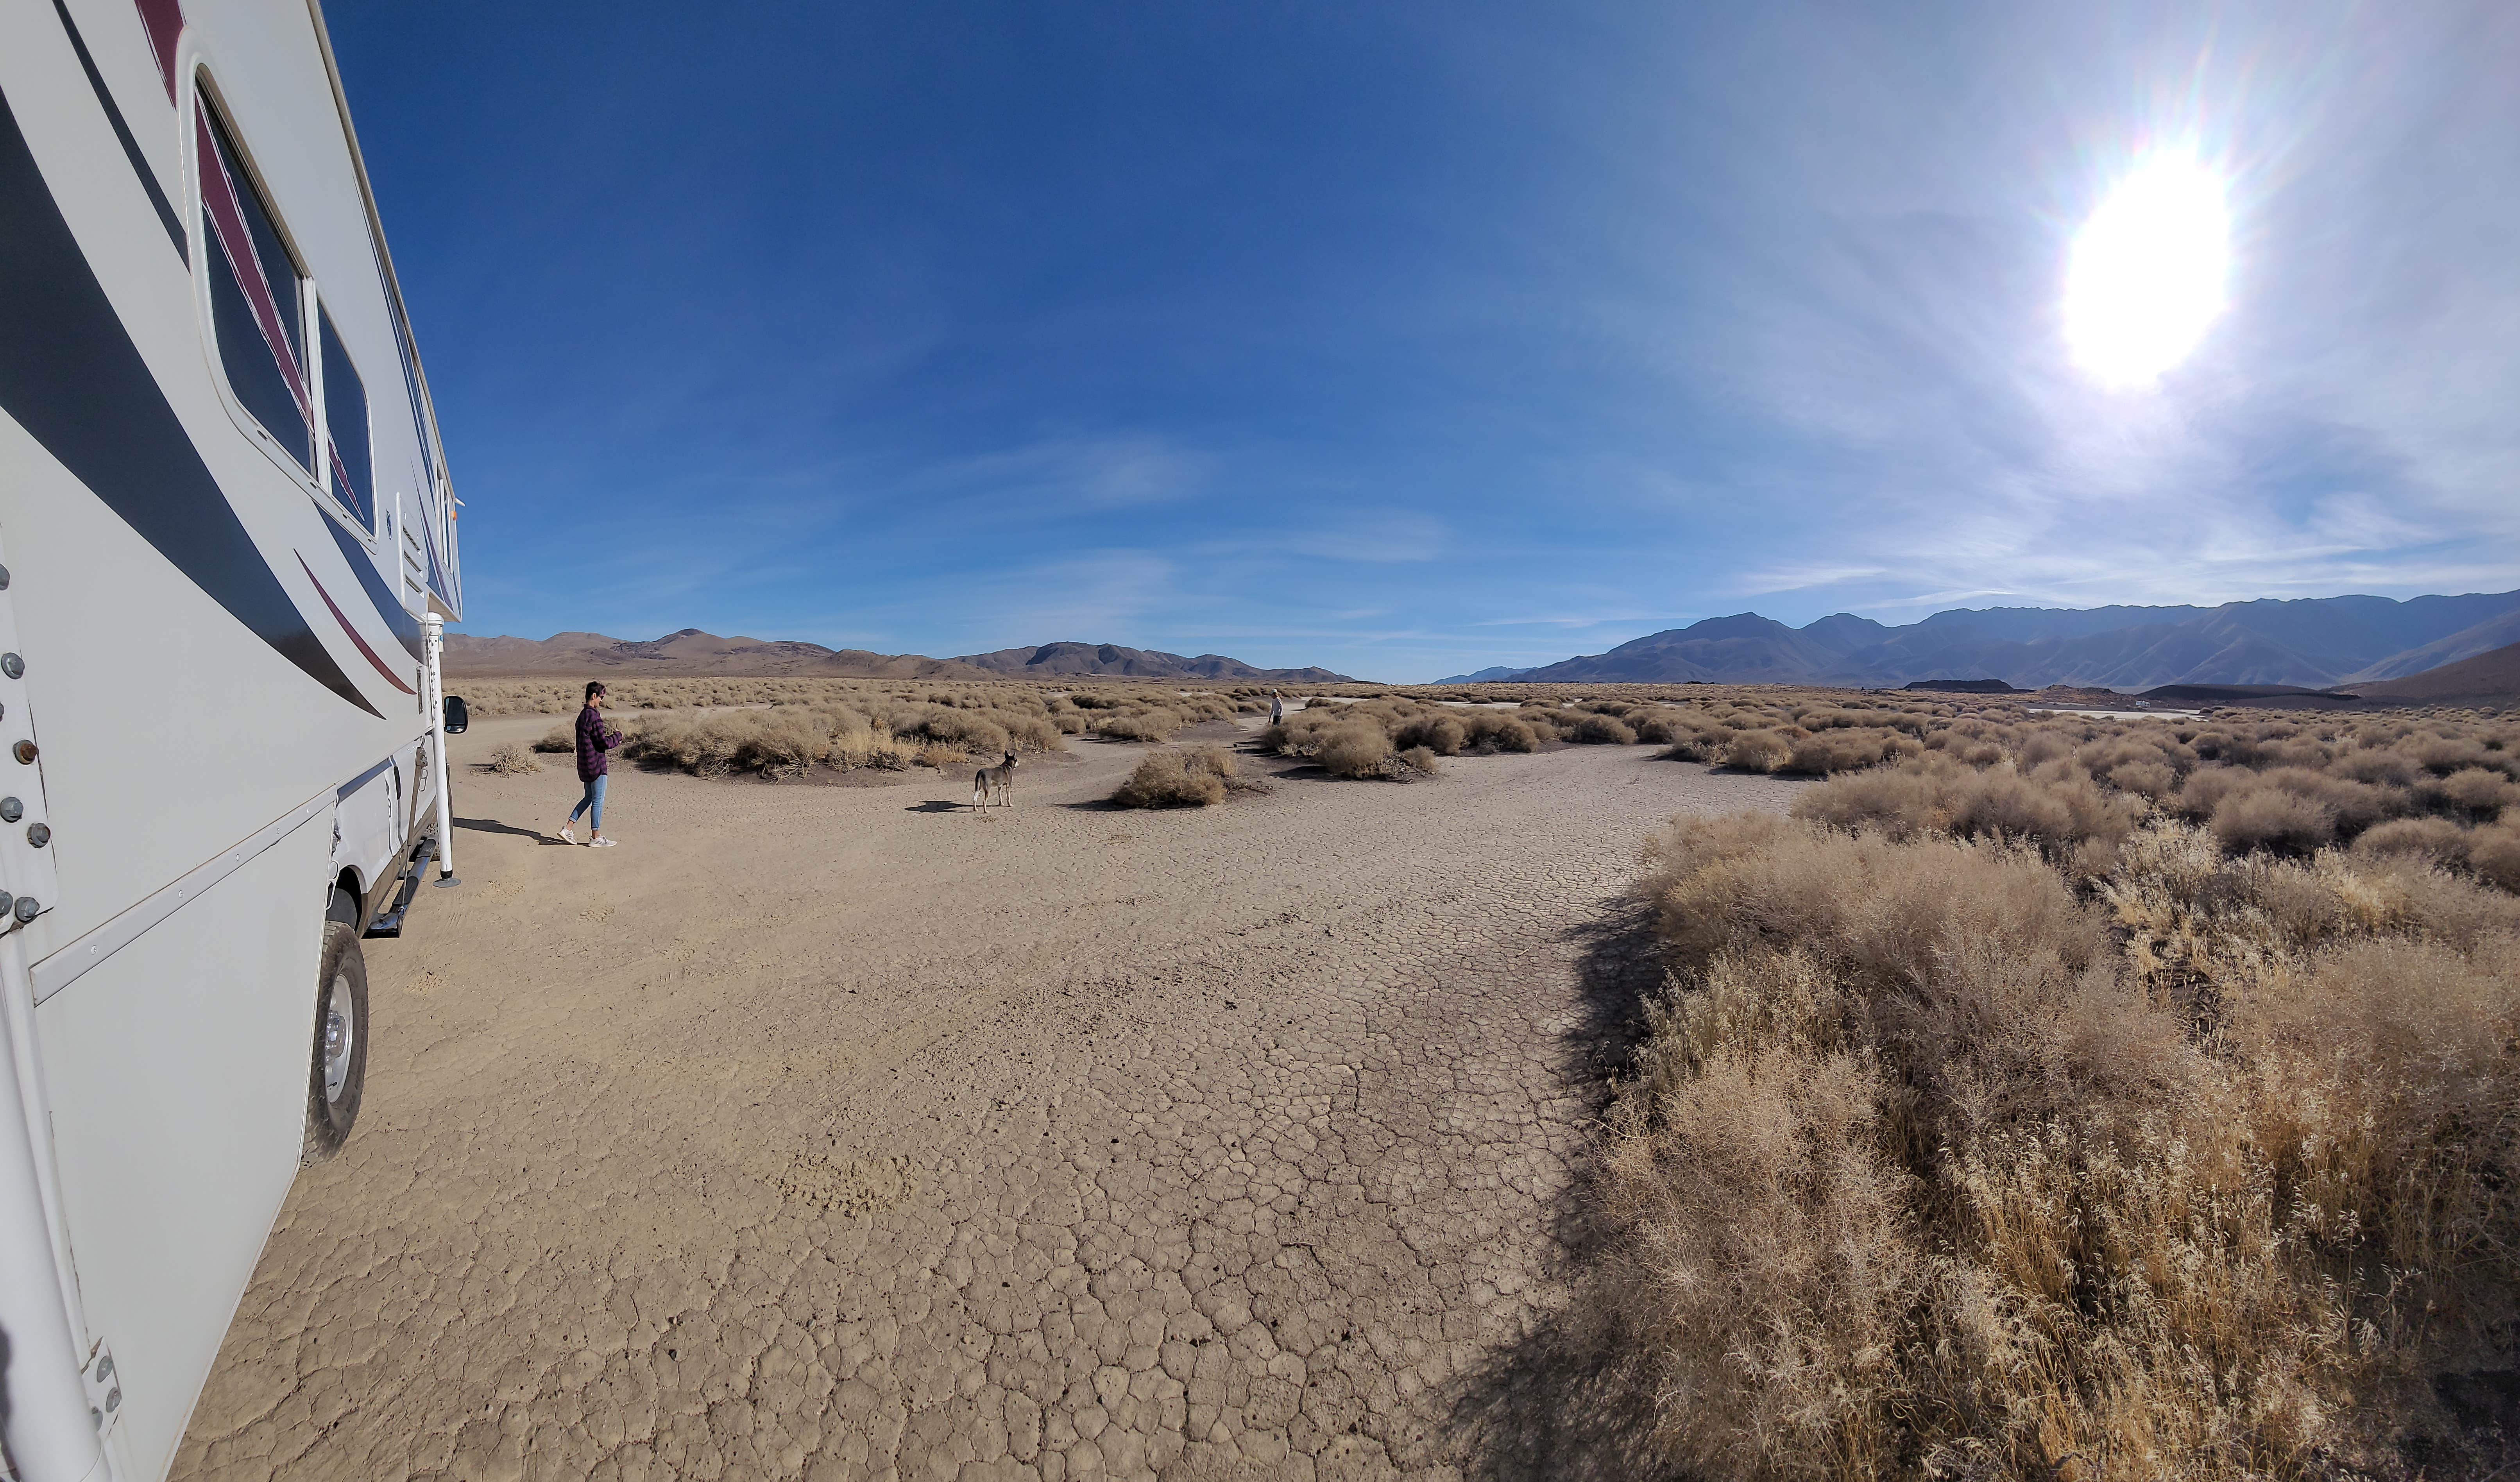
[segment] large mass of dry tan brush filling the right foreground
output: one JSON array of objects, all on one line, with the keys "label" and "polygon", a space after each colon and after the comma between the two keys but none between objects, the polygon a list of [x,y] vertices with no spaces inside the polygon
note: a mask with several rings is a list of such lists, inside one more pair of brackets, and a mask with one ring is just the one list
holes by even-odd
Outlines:
[{"label": "large mass of dry tan brush filling the right foreground", "polygon": [[[1807,796],[1875,776],[1935,781]],[[2013,774],[2051,776],[2079,771]],[[2223,801],[2260,796],[2301,804]],[[1583,1311],[1663,1464],[2475,1469],[2442,1394],[2520,1318],[2520,900],[2412,837],[2230,859],[2160,819],[2084,900],[1938,827],[1661,834],[1673,975]]]}]

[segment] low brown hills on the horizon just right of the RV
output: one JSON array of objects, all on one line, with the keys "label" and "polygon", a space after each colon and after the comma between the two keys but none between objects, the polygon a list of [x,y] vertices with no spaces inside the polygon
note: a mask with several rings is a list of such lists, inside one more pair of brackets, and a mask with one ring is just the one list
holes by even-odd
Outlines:
[{"label": "low brown hills on the horizon just right of the RV", "polygon": [[824,648],[819,643],[718,638],[683,628],[665,638],[622,640],[602,633],[554,633],[549,638],[474,638],[446,635],[446,670],[456,675],[759,675],[759,678],[1144,678],[1144,681],[1242,681],[1242,683],[1346,683],[1348,675],[1326,668],[1252,668],[1240,658],[1202,653],[1184,658],[1111,643],[1043,643],[1038,648],[1000,648],[960,658],[922,653],[869,653],[864,648]]}]

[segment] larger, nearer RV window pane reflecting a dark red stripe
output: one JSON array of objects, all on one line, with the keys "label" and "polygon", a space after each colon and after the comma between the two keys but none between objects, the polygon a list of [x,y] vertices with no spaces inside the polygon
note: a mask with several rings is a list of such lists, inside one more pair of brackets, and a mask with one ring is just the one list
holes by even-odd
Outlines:
[{"label": "larger, nearer RV window pane reflecting a dark red stripe", "polygon": [[227,123],[202,98],[197,118],[202,164],[202,234],[209,318],[219,338],[227,386],[297,466],[312,469],[315,418],[305,378],[305,290],[297,262],[280,242],[262,192],[255,189]]}]

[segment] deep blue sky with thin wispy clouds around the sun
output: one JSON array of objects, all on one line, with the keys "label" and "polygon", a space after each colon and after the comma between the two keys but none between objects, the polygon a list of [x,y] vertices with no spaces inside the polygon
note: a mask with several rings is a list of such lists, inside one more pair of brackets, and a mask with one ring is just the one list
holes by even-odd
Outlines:
[{"label": "deep blue sky with thin wispy clouds around the sun", "polygon": [[[469,633],[1434,678],[2520,585],[2520,8],[328,8]],[[2152,149],[2228,310],[2059,335]]]}]

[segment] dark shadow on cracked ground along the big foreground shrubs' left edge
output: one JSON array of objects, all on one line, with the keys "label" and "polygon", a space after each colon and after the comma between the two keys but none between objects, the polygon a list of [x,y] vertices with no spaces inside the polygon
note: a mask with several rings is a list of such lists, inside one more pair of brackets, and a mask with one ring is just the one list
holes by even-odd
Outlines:
[{"label": "dark shadow on cracked ground along the big foreground shrubs' left edge", "polygon": [[[1560,1056],[1562,1084],[1608,1106],[1610,1081],[1625,1074],[1646,1036],[1646,998],[1663,983],[1653,917],[1643,902],[1620,902],[1567,940],[1583,945],[1583,988]],[[1449,1399],[1467,1474],[1492,1482],[1673,1477],[1651,1447],[1651,1394],[1620,1366],[1623,1351],[1603,1331],[1605,1303],[1583,1301],[1603,1232],[1593,1220],[1598,1164],[1590,1149],[1550,1212],[1562,1268],[1550,1273],[1578,1298],[1550,1313],[1520,1343],[1464,1374]]]}]

